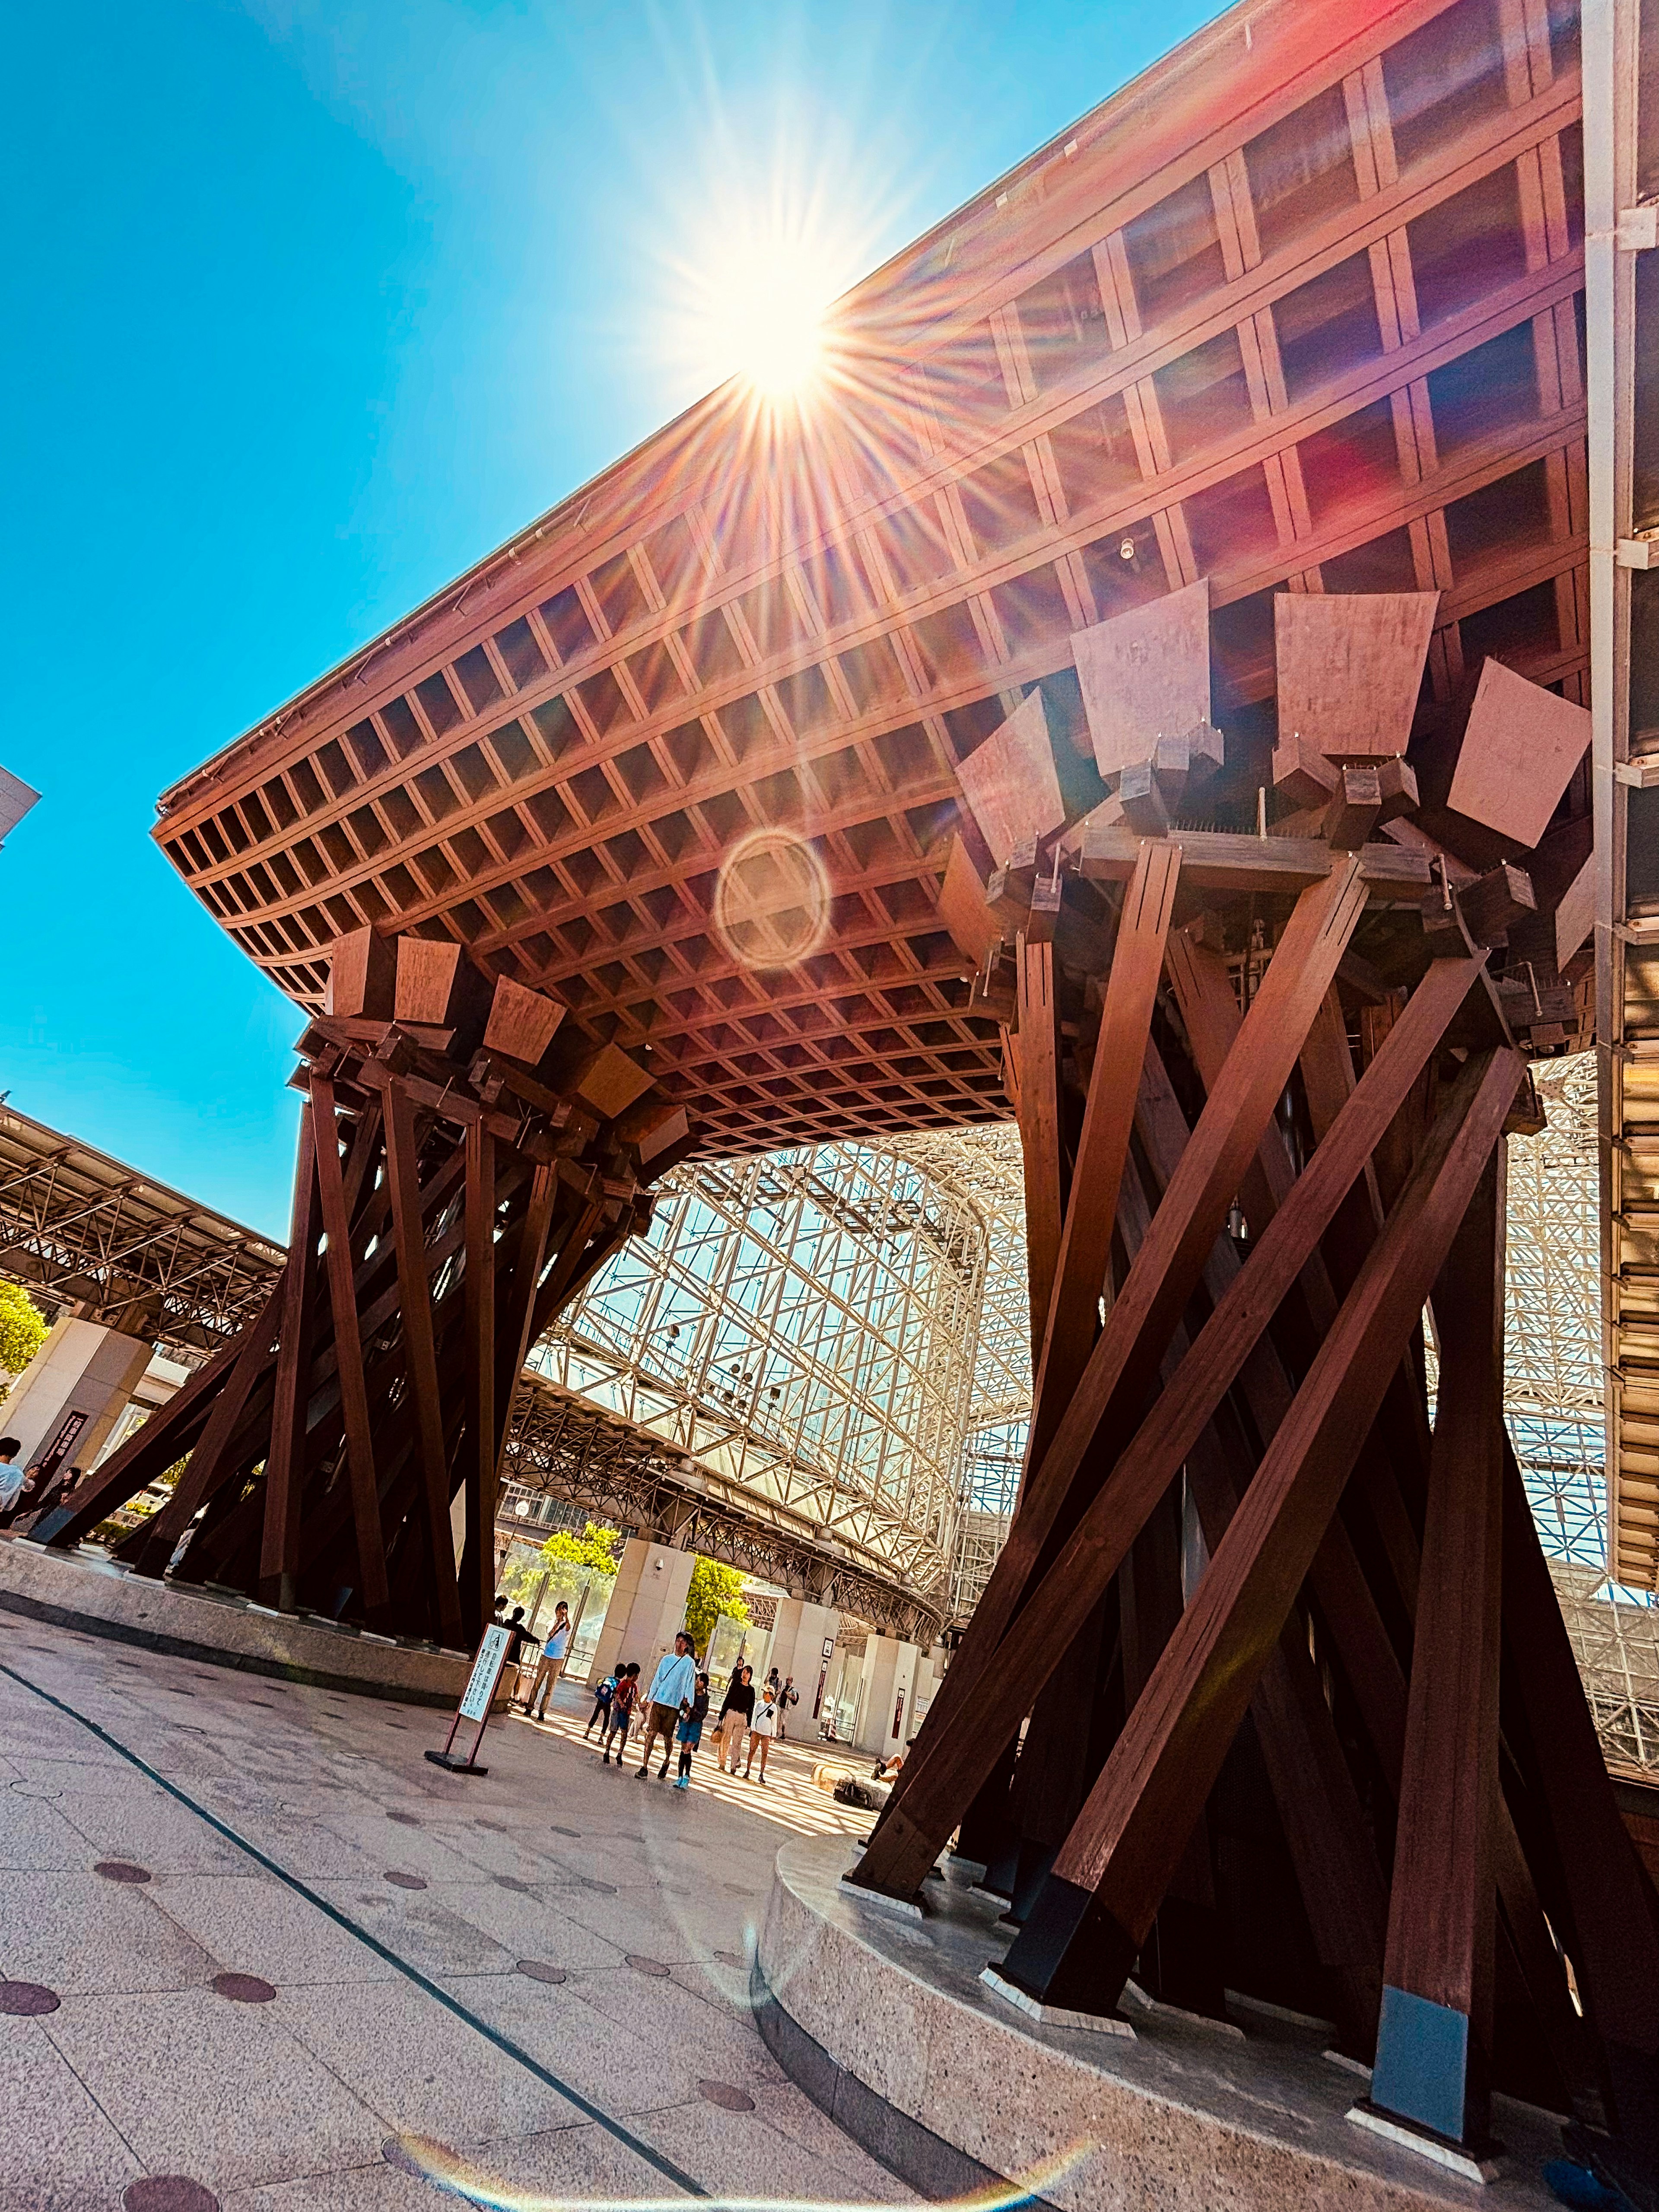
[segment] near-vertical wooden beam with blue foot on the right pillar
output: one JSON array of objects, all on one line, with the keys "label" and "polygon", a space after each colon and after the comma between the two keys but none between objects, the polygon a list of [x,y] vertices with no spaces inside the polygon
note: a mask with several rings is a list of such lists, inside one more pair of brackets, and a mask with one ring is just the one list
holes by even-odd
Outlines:
[{"label": "near-vertical wooden beam with blue foot on the right pillar", "polygon": [[1491,2119],[1504,1425],[1504,1146],[1433,1292],[1440,1400],[1371,2104],[1480,2148]]}]

